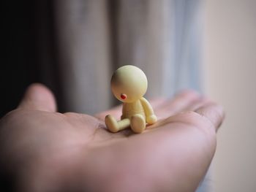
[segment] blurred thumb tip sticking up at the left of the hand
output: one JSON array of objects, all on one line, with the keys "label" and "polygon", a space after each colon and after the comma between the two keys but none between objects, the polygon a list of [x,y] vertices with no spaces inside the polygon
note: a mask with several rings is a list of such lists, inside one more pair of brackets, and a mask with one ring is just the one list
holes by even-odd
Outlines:
[{"label": "blurred thumb tip sticking up at the left of the hand", "polygon": [[45,85],[34,83],[27,88],[18,108],[56,112],[56,101]]}]

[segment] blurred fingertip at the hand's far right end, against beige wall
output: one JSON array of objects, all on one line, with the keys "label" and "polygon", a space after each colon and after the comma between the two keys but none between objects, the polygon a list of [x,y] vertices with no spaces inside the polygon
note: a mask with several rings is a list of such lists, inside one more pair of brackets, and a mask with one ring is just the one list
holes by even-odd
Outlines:
[{"label": "blurred fingertip at the hand's far right end, against beige wall", "polygon": [[204,106],[195,110],[198,114],[207,118],[216,129],[222,124],[222,120],[225,118],[223,108],[213,102],[205,104]]}]

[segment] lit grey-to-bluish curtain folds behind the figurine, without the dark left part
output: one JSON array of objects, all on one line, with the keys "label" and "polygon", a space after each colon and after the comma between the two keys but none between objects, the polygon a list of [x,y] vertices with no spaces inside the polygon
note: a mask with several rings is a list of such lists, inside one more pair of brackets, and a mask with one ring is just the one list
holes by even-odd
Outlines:
[{"label": "lit grey-to-bluish curtain folds behind the figurine, without the dark left part", "polygon": [[200,1],[56,0],[56,49],[65,109],[95,113],[117,104],[110,77],[135,65],[146,97],[200,90]]}]

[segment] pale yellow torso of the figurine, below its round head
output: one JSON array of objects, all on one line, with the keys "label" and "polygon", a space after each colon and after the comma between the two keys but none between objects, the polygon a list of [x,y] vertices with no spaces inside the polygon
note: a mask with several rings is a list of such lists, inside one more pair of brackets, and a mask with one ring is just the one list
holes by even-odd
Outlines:
[{"label": "pale yellow torso of the figurine, below its round head", "polygon": [[143,106],[140,102],[140,99],[138,99],[135,102],[132,103],[124,103],[123,104],[123,115],[122,115],[122,119],[124,118],[131,118],[132,115],[135,114],[140,114],[143,115],[143,117],[145,118],[145,112],[143,109]]}]

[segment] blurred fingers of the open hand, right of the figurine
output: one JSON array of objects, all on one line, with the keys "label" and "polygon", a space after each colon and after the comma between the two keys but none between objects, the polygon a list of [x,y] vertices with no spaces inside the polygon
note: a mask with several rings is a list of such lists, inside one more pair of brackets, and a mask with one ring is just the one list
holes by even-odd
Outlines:
[{"label": "blurred fingers of the open hand, right of the figurine", "polygon": [[162,126],[170,122],[187,122],[201,127],[208,125],[217,131],[225,118],[225,113],[220,105],[206,97],[196,95],[194,91],[178,94],[173,101],[170,101],[170,104],[160,107],[157,112],[160,120],[148,128]]}]

